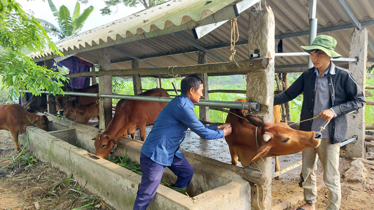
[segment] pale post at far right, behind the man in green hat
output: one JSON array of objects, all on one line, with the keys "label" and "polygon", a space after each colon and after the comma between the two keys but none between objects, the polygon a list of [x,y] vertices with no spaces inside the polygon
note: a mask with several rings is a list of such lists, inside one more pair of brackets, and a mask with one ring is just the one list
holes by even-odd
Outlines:
[{"label": "pale post at far right, behind the man in green hat", "polygon": [[[364,91],[366,84],[367,30],[355,29],[351,37],[350,58],[358,57],[358,62],[350,62],[350,72]],[[356,141],[346,145],[346,158],[365,158],[365,106],[348,116],[348,138],[356,135]]]}]

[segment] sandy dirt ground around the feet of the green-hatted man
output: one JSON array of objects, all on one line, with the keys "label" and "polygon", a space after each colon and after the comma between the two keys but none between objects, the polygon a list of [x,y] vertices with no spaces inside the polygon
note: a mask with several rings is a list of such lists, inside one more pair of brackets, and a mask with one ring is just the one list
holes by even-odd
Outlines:
[{"label": "sandy dirt ground around the feet of the green-hatted man", "polygon": [[[344,151],[340,151],[340,156],[344,157]],[[365,164],[366,169],[369,171],[369,175],[366,177],[364,183],[352,183],[344,180],[343,174],[350,167],[352,160],[346,160],[339,158],[339,172],[340,172],[340,185],[341,185],[341,210],[356,210],[374,209],[374,169],[373,166]],[[316,209],[326,209],[327,204],[327,188],[323,182],[323,169],[322,165],[318,161],[317,164],[317,202]],[[300,173],[301,167],[298,168]],[[273,180],[272,184],[272,196],[273,205],[278,204],[283,209],[290,209],[302,205],[303,201],[303,189],[299,187],[299,179],[283,179],[281,181]],[[289,200],[298,199],[297,205],[291,205]]]}]

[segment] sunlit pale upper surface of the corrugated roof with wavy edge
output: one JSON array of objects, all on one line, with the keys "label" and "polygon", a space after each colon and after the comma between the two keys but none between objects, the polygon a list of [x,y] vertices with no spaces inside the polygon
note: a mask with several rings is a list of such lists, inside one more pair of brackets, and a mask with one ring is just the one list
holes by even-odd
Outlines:
[{"label": "sunlit pale upper surface of the corrugated roof with wavy edge", "polygon": [[[101,42],[139,36],[144,32],[149,33],[157,28],[165,29],[171,25],[179,26],[190,20],[200,21],[234,1],[172,0],[94,28],[88,32],[72,36],[56,45],[62,52],[65,52],[69,49],[99,45]],[[43,53],[44,56],[50,54],[50,51]],[[31,57],[39,56],[38,54],[31,54]]]}]

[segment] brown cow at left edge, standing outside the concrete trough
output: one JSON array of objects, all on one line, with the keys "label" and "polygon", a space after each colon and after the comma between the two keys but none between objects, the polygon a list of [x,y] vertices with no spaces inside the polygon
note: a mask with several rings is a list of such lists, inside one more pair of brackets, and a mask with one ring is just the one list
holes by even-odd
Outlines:
[{"label": "brown cow at left edge, standing outside the concrete trough", "polygon": [[30,113],[19,104],[0,104],[0,113],[0,130],[10,131],[17,152],[21,152],[18,146],[18,135],[25,132],[26,126],[34,125],[48,131],[49,121],[47,116]]}]

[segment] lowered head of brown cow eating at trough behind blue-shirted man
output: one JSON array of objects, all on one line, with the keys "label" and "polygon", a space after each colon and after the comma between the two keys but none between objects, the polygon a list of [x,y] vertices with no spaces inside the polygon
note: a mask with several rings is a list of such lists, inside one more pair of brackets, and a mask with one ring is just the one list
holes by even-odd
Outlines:
[{"label": "lowered head of brown cow eating at trough behind blue-shirted man", "polygon": [[109,156],[114,144],[118,144],[117,140],[105,133],[98,134],[92,140],[95,140],[96,156],[104,159]]}]

